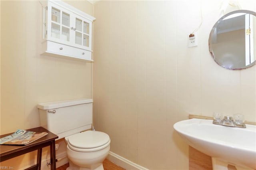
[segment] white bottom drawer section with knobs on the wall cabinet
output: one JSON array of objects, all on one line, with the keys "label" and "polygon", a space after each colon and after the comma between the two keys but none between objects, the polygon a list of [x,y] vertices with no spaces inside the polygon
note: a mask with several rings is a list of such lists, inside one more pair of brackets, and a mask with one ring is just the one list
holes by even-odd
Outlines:
[{"label": "white bottom drawer section with knobs on the wall cabinet", "polygon": [[[63,45],[56,42],[46,41],[47,45],[44,52],[51,53],[55,55],[62,55],[66,57],[72,57],[74,59],[84,59],[88,61],[92,60],[92,51],[87,51],[84,49],[71,47],[68,45]],[[55,57],[55,56],[54,56]],[[58,56],[56,56],[58,57]]]}]

